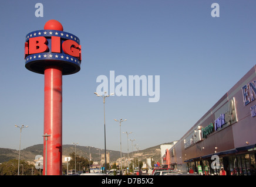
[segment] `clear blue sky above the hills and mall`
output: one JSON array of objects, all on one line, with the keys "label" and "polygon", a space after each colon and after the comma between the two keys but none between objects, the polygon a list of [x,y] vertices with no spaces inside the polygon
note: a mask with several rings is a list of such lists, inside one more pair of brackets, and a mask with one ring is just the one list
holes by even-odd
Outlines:
[{"label": "clear blue sky above the hills and mall", "polygon": [[[43,4],[36,18],[35,4]],[[211,4],[220,17],[211,16]],[[103,99],[93,92],[99,75],[160,75],[160,100],[106,99],[107,149],[120,150],[132,131],[140,150],[180,139],[256,61],[256,1],[91,0],[3,1],[0,7],[0,147],[43,143],[43,75],[25,68],[29,32],[50,19],[82,45],[81,70],[63,76],[63,144],[104,148]],[[117,85],[117,84],[116,84]],[[128,89],[128,88],[127,88]],[[131,145],[131,142],[129,142]],[[130,147],[129,150],[132,150]],[[122,134],[122,151],[127,136]]]}]

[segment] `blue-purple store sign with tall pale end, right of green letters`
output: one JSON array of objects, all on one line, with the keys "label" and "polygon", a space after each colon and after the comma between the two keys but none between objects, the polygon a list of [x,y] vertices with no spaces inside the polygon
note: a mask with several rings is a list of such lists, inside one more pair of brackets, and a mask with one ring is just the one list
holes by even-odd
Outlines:
[{"label": "blue-purple store sign with tall pale end, right of green letters", "polygon": [[218,128],[221,128],[224,124],[232,124],[236,122],[236,117],[235,117],[235,103],[234,103],[234,98],[230,99],[228,103],[228,111],[225,113],[222,113],[220,117],[214,120],[214,127],[215,130]]}]

